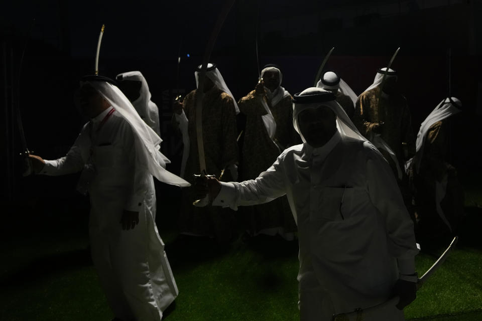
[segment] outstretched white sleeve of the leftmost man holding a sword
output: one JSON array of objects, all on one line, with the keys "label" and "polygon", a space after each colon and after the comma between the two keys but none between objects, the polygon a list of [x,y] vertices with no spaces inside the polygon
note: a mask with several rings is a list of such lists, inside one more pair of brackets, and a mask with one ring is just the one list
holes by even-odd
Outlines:
[{"label": "outstretched white sleeve of the leftmost man holding a sword", "polygon": [[49,176],[66,175],[80,172],[90,156],[90,137],[88,123],[84,125],[80,134],[70,147],[67,155],[53,161],[45,161],[45,166],[39,174]]}]

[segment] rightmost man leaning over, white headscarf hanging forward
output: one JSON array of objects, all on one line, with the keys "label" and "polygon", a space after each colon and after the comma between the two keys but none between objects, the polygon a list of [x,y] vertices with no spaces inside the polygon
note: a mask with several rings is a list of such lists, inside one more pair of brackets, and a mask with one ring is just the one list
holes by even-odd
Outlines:
[{"label": "rightmost man leaning over, white headscarf hanging forward", "polygon": [[450,122],[461,106],[449,97],[435,107],[420,126],[415,156],[406,163],[420,238],[456,234],[463,214],[463,190],[449,164]]}]

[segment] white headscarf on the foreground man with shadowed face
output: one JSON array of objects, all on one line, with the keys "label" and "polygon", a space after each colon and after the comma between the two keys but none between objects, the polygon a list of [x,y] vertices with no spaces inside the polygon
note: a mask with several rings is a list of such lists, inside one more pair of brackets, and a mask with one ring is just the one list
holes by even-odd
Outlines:
[{"label": "white headscarf on the foreground man with shadowed face", "polygon": [[[295,102],[297,96],[316,96],[316,95],[328,95],[331,94],[331,92],[317,88],[317,87],[310,87],[305,90],[303,90],[301,93],[296,94],[294,101],[293,101],[293,127],[295,127],[295,130],[300,134],[301,139],[303,142],[306,143],[306,139],[303,137],[303,134],[300,131],[299,125],[298,125],[298,115],[306,109],[309,108],[318,108],[320,106],[326,106],[330,108],[335,114],[336,114],[336,128],[340,132],[341,135],[343,136],[348,136],[352,137],[358,140],[363,140],[363,141],[368,141],[367,138],[365,138],[358,129],[356,129],[356,126],[353,124],[353,122],[350,120],[346,112],[344,111],[343,107],[341,107],[336,100],[329,100],[329,101],[323,101],[323,102],[312,102],[312,103],[300,103],[300,102]],[[334,96],[334,95],[333,95]]]}]

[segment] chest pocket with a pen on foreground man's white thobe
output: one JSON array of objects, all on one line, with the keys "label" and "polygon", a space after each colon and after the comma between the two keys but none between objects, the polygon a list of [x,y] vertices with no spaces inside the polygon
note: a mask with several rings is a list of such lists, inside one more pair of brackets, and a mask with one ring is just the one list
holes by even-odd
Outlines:
[{"label": "chest pocket with a pen on foreground man's white thobe", "polygon": [[313,212],[312,220],[343,221],[352,216],[354,188],[322,187],[319,192],[318,211]]}]

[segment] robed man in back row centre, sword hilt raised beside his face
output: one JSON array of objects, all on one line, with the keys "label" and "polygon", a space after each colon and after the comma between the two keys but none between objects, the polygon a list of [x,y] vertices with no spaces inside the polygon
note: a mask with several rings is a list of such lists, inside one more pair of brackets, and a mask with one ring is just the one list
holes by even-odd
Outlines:
[{"label": "robed man in back row centre, sword hilt raised beside his face", "polygon": [[[242,145],[241,180],[251,180],[276,161],[285,148],[299,143],[292,125],[293,97],[281,86],[283,74],[277,65],[266,65],[255,90],[238,102],[246,116]],[[296,224],[286,197],[268,204],[242,209],[251,236],[281,235],[293,240]]]}]

